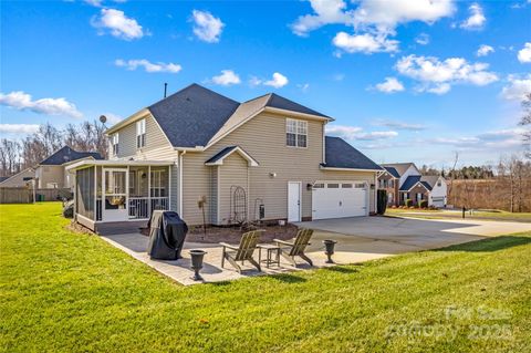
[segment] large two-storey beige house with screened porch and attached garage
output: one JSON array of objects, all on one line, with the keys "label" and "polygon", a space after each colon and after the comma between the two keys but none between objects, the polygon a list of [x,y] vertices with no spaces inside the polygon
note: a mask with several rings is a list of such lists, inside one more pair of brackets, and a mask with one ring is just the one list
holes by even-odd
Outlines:
[{"label": "large two-storey beige house with screened porch and attached garage", "polygon": [[366,216],[381,167],[325,136],[331,121],[273,93],[239,103],[191,84],[108,128],[108,160],[67,167],[75,217],[97,231],[154,209],[189,225]]}]

